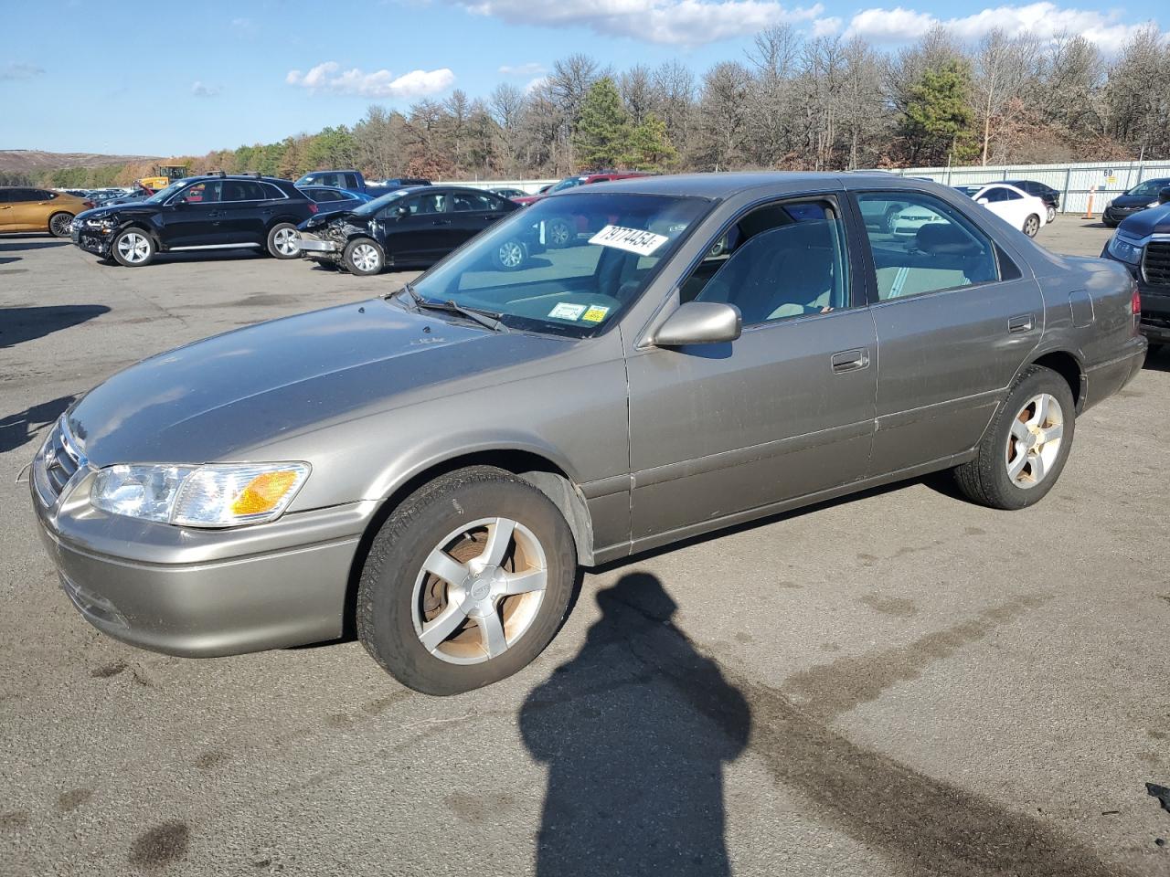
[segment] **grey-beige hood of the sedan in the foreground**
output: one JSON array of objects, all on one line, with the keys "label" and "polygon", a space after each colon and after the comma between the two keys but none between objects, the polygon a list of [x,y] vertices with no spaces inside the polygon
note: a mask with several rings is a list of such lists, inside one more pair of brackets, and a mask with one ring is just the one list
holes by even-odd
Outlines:
[{"label": "grey-beige hood of the sedan in the foreground", "polygon": [[565,348],[445,316],[376,298],[227,332],[113,375],[69,427],[98,467],[257,460],[266,443],[489,386]]}]

